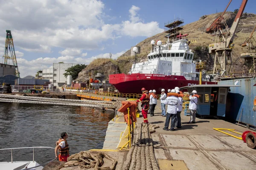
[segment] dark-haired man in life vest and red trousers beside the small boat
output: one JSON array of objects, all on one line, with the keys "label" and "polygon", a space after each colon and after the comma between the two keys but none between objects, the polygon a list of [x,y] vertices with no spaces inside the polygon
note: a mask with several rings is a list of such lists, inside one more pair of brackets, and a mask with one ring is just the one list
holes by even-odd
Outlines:
[{"label": "dark-haired man in life vest and red trousers beside the small boat", "polygon": [[67,144],[67,133],[61,133],[61,138],[56,142],[55,156],[57,158],[57,151],[59,151],[58,159],[59,161],[67,161],[69,157],[69,145]]}]

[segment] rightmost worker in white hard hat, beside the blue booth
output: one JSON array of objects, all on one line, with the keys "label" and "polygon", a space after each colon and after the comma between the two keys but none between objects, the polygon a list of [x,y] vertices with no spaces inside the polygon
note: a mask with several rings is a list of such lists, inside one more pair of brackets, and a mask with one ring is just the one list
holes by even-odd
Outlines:
[{"label": "rightmost worker in white hard hat, beside the blue booth", "polygon": [[197,91],[193,90],[192,95],[189,96],[189,110],[190,110],[190,121],[188,123],[195,123],[195,113],[198,104],[198,94]]}]

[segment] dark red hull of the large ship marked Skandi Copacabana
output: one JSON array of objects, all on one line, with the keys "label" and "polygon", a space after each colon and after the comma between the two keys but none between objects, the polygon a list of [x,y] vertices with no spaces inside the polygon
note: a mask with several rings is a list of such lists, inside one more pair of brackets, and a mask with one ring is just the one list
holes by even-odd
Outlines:
[{"label": "dark red hull of the large ship marked Skandi Copacabana", "polygon": [[[146,90],[156,90],[161,93],[164,88],[174,89],[187,85],[198,85],[199,81],[187,80],[183,76],[165,76],[163,74],[112,74],[109,76],[109,83],[124,94],[141,94],[141,88]],[[215,82],[202,82],[202,84],[215,84]]]}]

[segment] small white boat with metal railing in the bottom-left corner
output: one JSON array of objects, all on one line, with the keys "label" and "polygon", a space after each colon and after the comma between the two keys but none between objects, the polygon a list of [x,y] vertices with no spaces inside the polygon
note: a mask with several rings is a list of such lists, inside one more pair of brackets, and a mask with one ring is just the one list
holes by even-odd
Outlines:
[{"label": "small white boat with metal railing in the bottom-left corner", "polygon": [[[12,159],[12,151],[13,150],[30,149],[30,148],[33,149],[33,159],[32,160],[29,160],[29,161],[13,161],[13,159]],[[54,147],[16,147],[16,148],[0,149],[0,151],[1,150],[9,150],[10,153],[11,153],[11,161],[0,162],[0,169],[1,170],[42,170],[44,168],[43,165],[48,164],[49,162],[55,160],[55,158],[54,158],[51,161],[47,161],[44,164],[38,164],[34,160],[35,148],[55,149]]]}]

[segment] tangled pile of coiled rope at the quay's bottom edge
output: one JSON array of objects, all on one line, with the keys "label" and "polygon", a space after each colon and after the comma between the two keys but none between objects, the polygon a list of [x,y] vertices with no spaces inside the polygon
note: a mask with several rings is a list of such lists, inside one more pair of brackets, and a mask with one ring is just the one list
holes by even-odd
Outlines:
[{"label": "tangled pile of coiled rope at the quay's bottom edge", "polygon": [[[106,158],[110,161],[112,161],[111,167],[102,167],[104,164],[103,158]],[[82,151],[79,153],[76,153],[74,155],[71,155],[67,159],[67,163],[64,164],[64,167],[73,167],[79,165],[79,168],[81,169],[89,169],[94,168],[94,170],[115,170],[117,161],[108,154],[99,152],[99,153],[90,153],[88,151]],[[69,162],[70,161],[70,162]],[[73,161],[75,161],[73,163]]]}]

